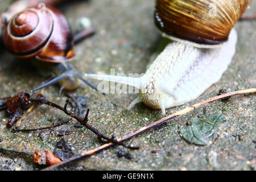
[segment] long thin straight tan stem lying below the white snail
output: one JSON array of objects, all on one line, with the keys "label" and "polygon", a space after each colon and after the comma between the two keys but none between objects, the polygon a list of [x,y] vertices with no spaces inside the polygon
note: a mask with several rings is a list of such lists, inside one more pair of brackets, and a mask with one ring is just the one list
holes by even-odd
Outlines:
[{"label": "long thin straight tan stem lying below the white snail", "polygon": [[[171,119],[174,119],[174,118],[177,118],[177,117],[179,117],[181,115],[184,115],[185,113],[193,111],[194,109],[196,109],[198,107],[208,105],[211,102],[222,100],[224,98],[229,98],[229,97],[234,97],[234,96],[242,95],[242,94],[250,94],[250,93],[256,93],[256,88],[246,89],[246,90],[239,90],[239,91],[236,91],[236,92],[230,92],[230,93],[222,94],[220,96],[209,98],[208,100],[205,100],[205,101],[199,102],[199,103],[197,103],[195,105],[186,107],[185,109],[177,111],[174,114],[168,115],[165,118],[162,118],[162,119],[160,119],[160,120],[158,120],[156,122],[153,122],[153,123],[151,123],[151,124],[149,124],[147,126],[144,126],[141,129],[135,131],[134,133],[125,135],[125,137],[117,139],[117,141],[118,142],[125,142],[126,140],[129,140],[129,139],[131,139],[131,138],[133,138],[133,137],[135,137],[135,136],[137,136],[137,135],[139,135],[139,134],[141,134],[141,133],[143,133],[145,131],[148,131],[148,130],[154,128],[154,127],[162,125],[163,123],[166,123],[166,122],[170,121]],[[65,164],[74,162],[74,161],[82,159],[82,158],[86,158],[86,157],[92,156],[94,154],[97,154],[97,153],[99,153],[99,152],[101,152],[103,150],[106,150],[106,149],[108,149],[108,148],[110,148],[112,146],[114,146],[113,142],[103,144],[100,147],[94,148],[93,150],[82,152],[79,155],[76,155],[76,156],[73,156],[72,158],[64,160],[63,162],[61,162],[59,164],[55,164],[53,166],[49,166],[47,168],[44,168],[43,170],[45,170],[45,171],[53,170],[53,169],[55,169],[57,167],[64,166]]]}]

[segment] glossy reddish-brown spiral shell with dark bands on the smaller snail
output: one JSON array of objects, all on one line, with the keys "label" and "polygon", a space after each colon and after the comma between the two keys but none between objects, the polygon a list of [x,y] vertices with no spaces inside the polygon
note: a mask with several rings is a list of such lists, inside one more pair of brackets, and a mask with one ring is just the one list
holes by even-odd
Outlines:
[{"label": "glossy reddish-brown spiral shell with dark bands on the smaller snail", "polygon": [[67,19],[52,7],[29,7],[15,14],[3,30],[3,43],[20,59],[60,63],[75,58]]}]

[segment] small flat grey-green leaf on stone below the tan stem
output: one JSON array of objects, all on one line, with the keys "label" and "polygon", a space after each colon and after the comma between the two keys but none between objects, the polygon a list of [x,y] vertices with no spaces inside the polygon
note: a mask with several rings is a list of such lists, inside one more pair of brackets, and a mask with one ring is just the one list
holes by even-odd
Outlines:
[{"label": "small flat grey-green leaf on stone below the tan stem", "polygon": [[226,121],[221,113],[207,115],[203,118],[191,118],[191,125],[180,130],[181,136],[188,142],[197,145],[207,145],[208,138],[218,130],[220,124]]}]

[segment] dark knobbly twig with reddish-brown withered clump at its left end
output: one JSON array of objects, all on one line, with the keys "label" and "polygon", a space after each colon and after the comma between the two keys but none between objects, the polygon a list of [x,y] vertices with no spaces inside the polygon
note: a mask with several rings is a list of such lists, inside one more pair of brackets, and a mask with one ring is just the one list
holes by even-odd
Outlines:
[{"label": "dark knobbly twig with reddish-brown withered clump at its left end", "polygon": [[[112,142],[114,144],[121,145],[121,146],[129,148],[129,149],[134,149],[134,150],[138,149],[138,147],[126,146],[126,144],[124,144],[122,142],[118,142],[118,140],[115,139],[114,137],[111,137],[111,138],[106,137],[106,135],[102,134],[96,128],[89,125],[88,124],[89,109],[86,110],[85,117],[80,116],[80,115],[77,116],[76,114],[69,111],[67,109],[69,99],[66,100],[64,107],[62,107],[60,105],[57,105],[54,102],[46,100],[46,98],[44,98],[44,96],[42,94],[38,94],[38,96],[36,98],[32,98],[30,96],[30,94],[28,94],[26,92],[20,92],[20,93],[16,94],[16,96],[10,97],[10,98],[0,98],[0,100],[7,100],[7,103],[3,102],[0,105],[0,109],[7,109],[7,112],[9,112],[10,115],[13,115],[13,117],[9,119],[10,122],[7,123],[7,126],[13,126],[13,123],[17,122],[18,119],[20,119],[19,121],[22,121],[22,119],[24,117],[26,117],[26,115],[28,113],[30,113],[30,111],[34,108],[35,104],[45,104],[45,105],[55,107],[56,109],[59,109],[59,110],[63,111],[65,114],[69,115],[71,118],[74,118],[77,121],[79,121],[82,126],[85,126],[87,129],[89,129],[94,134],[96,134],[97,138],[99,139],[100,142],[104,142],[104,143]],[[8,103],[8,102],[10,102],[10,103]],[[27,110],[27,113],[23,114],[23,110],[27,109],[26,107],[31,105],[31,103],[32,103],[32,106]],[[10,109],[10,110],[8,110],[8,109]],[[49,126],[49,127],[43,127],[43,128],[39,128],[39,129],[24,129],[24,130],[19,129],[18,127],[13,127],[13,131],[14,132],[15,131],[24,131],[24,132],[26,131],[26,132],[28,132],[28,131],[45,130],[45,129],[50,129],[52,127],[57,127],[57,126],[60,126],[60,125],[63,125],[63,124],[64,123],[60,123],[60,124],[57,124],[57,125],[53,125],[53,126]]]}]

